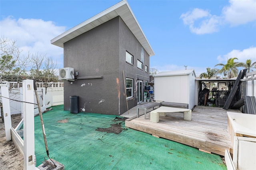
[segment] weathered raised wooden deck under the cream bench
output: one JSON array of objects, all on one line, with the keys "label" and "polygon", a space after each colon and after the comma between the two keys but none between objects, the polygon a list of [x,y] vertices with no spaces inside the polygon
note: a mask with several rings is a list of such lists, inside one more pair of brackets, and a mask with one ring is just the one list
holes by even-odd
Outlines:
[{"label": "weathered raised wooden deck under the cream bench", "polygon": [[147,119],[144,115],[127,119],[125,126],[224,156],[225,150],[232,148],[226,112],[218,107],[196,106],[191,121],[184,120],[183,113],[167,113],[158,123],[152,123],[147,113]]}]

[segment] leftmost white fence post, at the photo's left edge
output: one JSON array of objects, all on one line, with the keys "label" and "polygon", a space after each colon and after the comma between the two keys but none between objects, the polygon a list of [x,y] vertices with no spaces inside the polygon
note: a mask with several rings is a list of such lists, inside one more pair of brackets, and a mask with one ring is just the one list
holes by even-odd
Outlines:
[{"label": "leftmost white fence post, at the photo's left edge", "polygon": [[2,94],[2,104],[3,104],[3,113],[4,113],[4,128],[6,141],[12,140],[11,128],[12,128],[12,120],[11,120],[11,112],[10,112],[10,99],[9,99],[9,91],[7,84],[0,84],[1,86],[1,94]]}]

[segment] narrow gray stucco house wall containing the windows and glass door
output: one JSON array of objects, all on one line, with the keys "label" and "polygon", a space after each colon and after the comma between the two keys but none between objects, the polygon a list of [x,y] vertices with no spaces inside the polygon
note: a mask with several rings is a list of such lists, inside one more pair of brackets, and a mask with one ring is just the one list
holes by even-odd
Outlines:
[{"label": "narrow gray stucco house wall containing the windows and glass door", "polygon": [[[119,51],[120,51],[120,70],[119,75],[121,77],[121,95],[120,95],[120,112],[124,113],[127,111],[126,106],[126,98],[125,98],[125,90],[124,90],[124,79],[123,79],[123,70],[124,70],[124,77],[133,79],[133,98],[128,99],[128,108],[131,109],[137,105],[137,97],[136,97],[136,90],[137,90],[137,82],[136,79],[142,80],[143,83],[149,81],[149,73],[145,71],[145,65],[148,66],[149,69],[149,55],[144,50],[142,45],[138,42],[132,32],[128,29],[126,24],[123,22],[121,18],[120,20],[120,43],[119,43]],[[143,50],[143,56],[141,51]],[[126,63],[126,51],[133,55],[133,65]],[[143,70],[137,67],[137,59],[143,62]],[[136,75],[137,74],[137,75]],[[144,77],[142,77],[144,76]],[[148,78],[147,78],[148,77]]]}]

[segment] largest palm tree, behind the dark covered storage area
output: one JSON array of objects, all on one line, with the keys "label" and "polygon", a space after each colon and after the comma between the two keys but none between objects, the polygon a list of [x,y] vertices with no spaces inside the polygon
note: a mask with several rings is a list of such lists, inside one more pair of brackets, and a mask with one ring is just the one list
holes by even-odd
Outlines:
[{"label": "largest palm tree, behind the dark covered storage area", "polygon": [[228,59],[226,64],[216,64],[214,67],[221,65],[223,66],[220,70],[219,73],[226,73],[226,75],[228,76],[228,79],[236,77],[238,75],[238,68],[237,67],[243,67],[244,63],[241,62],[235,62],[234,60],[238,59],[236,57],[230,58]]}]

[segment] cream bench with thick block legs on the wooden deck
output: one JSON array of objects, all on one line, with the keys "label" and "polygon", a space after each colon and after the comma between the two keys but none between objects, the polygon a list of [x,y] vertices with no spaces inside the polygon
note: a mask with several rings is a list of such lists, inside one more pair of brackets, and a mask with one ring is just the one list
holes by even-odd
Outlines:
[{"label": "cream bench with thick block legs on the wooden deck", "polygon": [[158,123],[159,116],[166,116],[166,113],[172,113],[172,112],[183,112],[184,114],[183,119],[187,121],[191,121],[192,111],[190,109],[161,106],[158,109],[155,109],[150,112],[150,122]]}]

